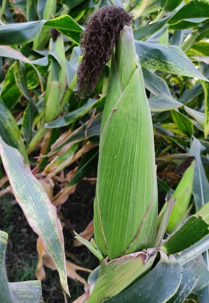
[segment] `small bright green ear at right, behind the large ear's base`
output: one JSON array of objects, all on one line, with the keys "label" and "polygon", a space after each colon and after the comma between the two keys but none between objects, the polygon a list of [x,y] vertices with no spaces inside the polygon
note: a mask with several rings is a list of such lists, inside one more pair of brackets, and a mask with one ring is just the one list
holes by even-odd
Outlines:
[{"label": "small bright green ear at right, behind the large ear's base", "polygon": [[166,232],[170,233],[178,224],[187,216],[187,210],[191,200],[193,190],[193,176],[194,176],[195,161],[184,172],[183,177],[177,185],[173,193],[173,198],[176,198],[176,203],[170,214]]}]

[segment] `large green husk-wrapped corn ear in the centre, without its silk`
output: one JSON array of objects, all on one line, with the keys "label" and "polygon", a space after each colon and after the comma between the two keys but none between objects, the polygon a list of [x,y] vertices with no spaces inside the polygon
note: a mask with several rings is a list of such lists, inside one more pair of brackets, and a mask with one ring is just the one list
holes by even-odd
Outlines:
[{"label": "large green husk-wrapped corn ear in the centre, without its silk", "polygon": [[98,249],[113,259],[153,247],[157,229],[153,125],[131,26],[120,33],[109,79],[94,227]]}]

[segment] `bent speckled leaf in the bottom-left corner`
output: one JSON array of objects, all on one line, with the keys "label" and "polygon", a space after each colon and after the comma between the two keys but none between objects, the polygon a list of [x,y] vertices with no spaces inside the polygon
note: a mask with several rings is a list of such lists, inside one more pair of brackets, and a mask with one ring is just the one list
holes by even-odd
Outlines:
[{"label": "bent speckled leaf in the bottom-left corner", "polygon": [[5,266],[7,239],[8,234],[0,230],[0,302],[44,302],[42,299],[41,281],[8,282]]}]

